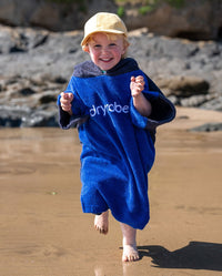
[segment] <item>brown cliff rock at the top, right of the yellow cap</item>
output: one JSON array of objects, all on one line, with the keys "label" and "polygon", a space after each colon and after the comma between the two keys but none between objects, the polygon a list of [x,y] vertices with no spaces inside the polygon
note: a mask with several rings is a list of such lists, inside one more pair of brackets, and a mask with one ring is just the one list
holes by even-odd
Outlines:
[{"label": "brown cliff rock at the top, right of the yellow cap", "polygon": [[157,34],[191,40],[216,39],[221,35],[221,1],[185,0],[178,8],[165,1],[142,14],[140,8],[140,1],[125,6],[124,21],[130,29],[148,27]]}]

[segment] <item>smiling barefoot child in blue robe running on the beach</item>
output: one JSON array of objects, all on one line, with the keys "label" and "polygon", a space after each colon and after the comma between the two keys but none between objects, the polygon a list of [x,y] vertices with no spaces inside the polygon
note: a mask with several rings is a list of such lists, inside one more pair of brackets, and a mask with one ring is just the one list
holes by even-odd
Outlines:
[{"label": "smiling barefoot child in blue robe running on the beach", "polygon": [[58,98],[62,129],[78,127],[82,143],[81,204],[108,233],[109,209],[120,222],[123,262],[139,259],[137,229],[149,222],[148,173],[154,162],[155,127],[175,115],[173,104],[124,58],[129,47],[122,20],[99,12],[84,25],[83,51],[91,61],[75,67]]}]

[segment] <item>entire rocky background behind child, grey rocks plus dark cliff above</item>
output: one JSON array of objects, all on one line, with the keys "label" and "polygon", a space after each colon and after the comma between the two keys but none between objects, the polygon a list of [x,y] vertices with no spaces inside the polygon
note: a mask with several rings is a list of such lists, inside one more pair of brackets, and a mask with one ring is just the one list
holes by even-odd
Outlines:
[{"label": "entire rocky background behind child, grey rocks plus dark cliff above", "polygon": [[[99,8],[95,0],[54,1],[0,0],[0,126],[58,126],[57,95],[88,59],[78,29],[92,13],[120,8],[112,0]],[[160,0],[141,13],[144,3],[121,1],[129,55],[176,105],[222,111],[222,1],[175,8]]]}]

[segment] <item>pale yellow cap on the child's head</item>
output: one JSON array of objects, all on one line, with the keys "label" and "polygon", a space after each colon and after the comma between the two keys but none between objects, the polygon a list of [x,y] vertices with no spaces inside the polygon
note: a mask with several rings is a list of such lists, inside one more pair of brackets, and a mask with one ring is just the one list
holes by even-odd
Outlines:
[{"label": "pale yellow cap on the child's head", "polygon": [[84,24],[84,38],[81,45],[84,45],[88,38],[95,32],[108,32],[128,35],[124,22],[114,13],[98,12]]}]

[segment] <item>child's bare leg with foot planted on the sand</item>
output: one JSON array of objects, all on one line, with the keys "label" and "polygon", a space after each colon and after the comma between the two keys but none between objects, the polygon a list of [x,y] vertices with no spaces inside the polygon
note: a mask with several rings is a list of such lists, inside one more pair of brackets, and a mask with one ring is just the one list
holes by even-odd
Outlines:
[{"label": "child's bare leg with foot planted on the sand", "polygon": [[121,223],[120,224],[123,235],[123,254],[122,262],[134,262],[139,259],[139,253],[137,248],[137,229],[131,226]]}]

